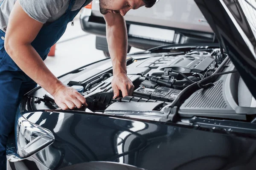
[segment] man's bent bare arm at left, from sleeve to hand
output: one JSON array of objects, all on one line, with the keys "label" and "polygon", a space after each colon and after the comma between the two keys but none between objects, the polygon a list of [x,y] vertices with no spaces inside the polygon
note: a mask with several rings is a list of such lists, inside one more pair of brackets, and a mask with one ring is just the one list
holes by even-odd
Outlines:
[{"label": "man's bent bare arm at left, from sleeve to hand", "polygon": [[62,109],[81,107],[85,99],[72,88],[64,86],[49,71],[43,60],[32,47],[43,24],[29,17],[17,1],[9,17],[5,37],[5,49],[14,62],[30,78],[55,97]]}]

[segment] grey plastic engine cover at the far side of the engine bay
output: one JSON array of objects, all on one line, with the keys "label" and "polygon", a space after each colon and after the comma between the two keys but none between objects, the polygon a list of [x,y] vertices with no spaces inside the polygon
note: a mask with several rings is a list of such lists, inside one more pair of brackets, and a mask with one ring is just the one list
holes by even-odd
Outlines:
[{"label": "grey plastic engine cover at the far side of the engine bay", "polygon": [[183,74],[193,74],[201,73],[209,67],[214,68],[214,59],[211,58],[210,53],[202,51],[196,54],[163,55],[137,61],[127,67],[127,73],[130,75],[149,74],[149,76],[159,77],[165,68],[172,68]]}]

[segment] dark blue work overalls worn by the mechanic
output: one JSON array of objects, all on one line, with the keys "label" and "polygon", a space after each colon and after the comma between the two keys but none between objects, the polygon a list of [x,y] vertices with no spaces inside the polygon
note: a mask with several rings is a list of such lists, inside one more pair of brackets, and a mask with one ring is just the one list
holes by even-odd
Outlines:
[{"label": "dark blue work overalls worn by the mechanic", "polygon": [[[82,7],[92,0],[84,0]],[[58,20],[44,25],[31,45],[44,60],[60,37],[64,34],[67,23],[73,20],[79,10],[71,11],[75,0],[70,0],[65,14]],[[2,37],[2,38],[1,38]],[[6,142],[14,128],[15,114],[24,94],[35,88],[36,83],[30,79],[10,58],[4,48],[5,33],[0,30],[0,170],[6,169]]]}]

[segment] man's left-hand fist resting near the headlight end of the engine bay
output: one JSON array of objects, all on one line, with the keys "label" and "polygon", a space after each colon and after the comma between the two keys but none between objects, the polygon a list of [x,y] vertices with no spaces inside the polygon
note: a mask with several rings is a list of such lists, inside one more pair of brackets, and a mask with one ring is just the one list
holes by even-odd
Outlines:
[{"label": "man's left-hand fist resting near the headlight end of the engine bay", "polygon": [[81,108],[82,105],[87,106],[84,97],[76,89],[65,85],[58,86],[52,96],[62,110]]}]

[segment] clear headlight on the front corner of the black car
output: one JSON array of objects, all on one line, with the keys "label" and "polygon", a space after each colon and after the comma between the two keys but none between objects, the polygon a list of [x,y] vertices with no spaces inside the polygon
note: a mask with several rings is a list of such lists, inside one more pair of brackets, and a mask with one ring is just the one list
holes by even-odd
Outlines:
[{"label": "clear headlight on the front corner of the black car", "polygon": [[54,141],[51,131],[27,121],[23,116],[17,118],[16,133],[17,153],[23,158]]}]

